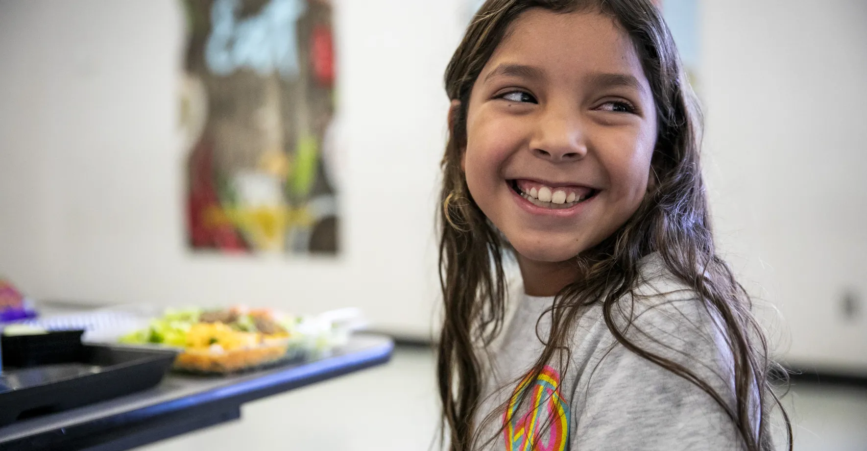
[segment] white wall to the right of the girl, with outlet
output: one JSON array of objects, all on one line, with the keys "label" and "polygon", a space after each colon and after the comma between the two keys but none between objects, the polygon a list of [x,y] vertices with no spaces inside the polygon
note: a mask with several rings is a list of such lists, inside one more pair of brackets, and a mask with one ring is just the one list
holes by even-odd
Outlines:
[{"label": "white wall to the right of the girl, with outlet", "polygon": [[792,363],[867,374],[867,2],[707,1],[703,17],[717,237],[779,307]]}]

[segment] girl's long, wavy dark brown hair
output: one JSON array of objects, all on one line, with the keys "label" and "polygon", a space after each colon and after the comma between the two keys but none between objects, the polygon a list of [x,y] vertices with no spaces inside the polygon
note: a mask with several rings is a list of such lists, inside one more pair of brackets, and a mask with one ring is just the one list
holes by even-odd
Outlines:
[{"label": "girl's long, wavy dark brown hair", "polygon": [[[448,64],[447,94],[460,101],[450,120],[440,193],[440,285],[445,315],[437,376],[442,430],[449,449],[471,449],[478,438],[475,419],[482,396],[483,359],[505,319],[504,258],[512,252],[466,186],[460,166],[466,147],[466,112],[473,84],[494,49],[512,22],[531,8],[555,13],[599,11],[611,16],[629,34],[642,60],[659,129],[651,160],[652,187],[625,225],[576,258],[582,277],[557,294],[549,337],[529,377],[537,378],[557,350],[567,347],[570,325],[577,322],[581,307],[599,303],[617,342],[710,395],[737,428],[743,448],[773,448],[768,422],[776,405],[782,411],[791,449],[792,428],[772,391],[771,375],[776,367],[751,312],[752,301],[714,250],[699,161],[701,112],[668,27],[649,0],[488,0]],[[653,252],[719,317],[733,356],[734,405],[726,401],[732,394],[719,393],[688,367],[631,341],[614,318],[612,308],[617,300],[631,294],[641,280],[639,260]]]}]

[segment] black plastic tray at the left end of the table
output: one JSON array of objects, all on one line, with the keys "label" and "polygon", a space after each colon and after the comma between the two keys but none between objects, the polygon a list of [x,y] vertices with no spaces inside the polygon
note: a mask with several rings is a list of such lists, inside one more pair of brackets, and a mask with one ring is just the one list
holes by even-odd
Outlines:
[{"label": "black plastic tray at the left end of the table", "polygon": [[77,362],[8,367],[0,376],[0,426],[149,389],[175,350],[85,345]]}]

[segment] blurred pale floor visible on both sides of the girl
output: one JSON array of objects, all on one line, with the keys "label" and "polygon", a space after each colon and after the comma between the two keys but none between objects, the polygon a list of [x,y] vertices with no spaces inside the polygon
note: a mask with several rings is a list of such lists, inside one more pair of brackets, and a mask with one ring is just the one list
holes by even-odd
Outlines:
[{"label": "blurred pale floor visible on both sides of the girl", "polygon": [[[801,383],[786,403],[796,450],[867,451],[867,390]],[[437,421],[433,355],[398,350],[386,366],[247,404],[239,422],[140,450],[427,450]]]}]

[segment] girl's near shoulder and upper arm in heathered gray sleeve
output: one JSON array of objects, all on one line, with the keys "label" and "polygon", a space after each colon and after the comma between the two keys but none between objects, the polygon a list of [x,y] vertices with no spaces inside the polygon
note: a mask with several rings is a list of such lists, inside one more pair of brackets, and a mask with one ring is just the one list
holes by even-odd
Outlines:
[{"label": "girl's near shoulder and upper arm in heathered gray sleeve", "polygon": [[717,315],[662,258],[649,256],[641,270],[632,291],[593,306],[587,335],[577,331],[572,447],[739,448],[724,409],[691,382],[735,405],[734,361]]}]

